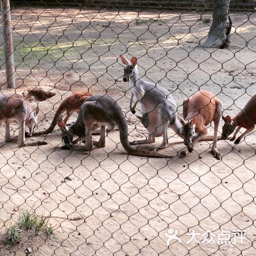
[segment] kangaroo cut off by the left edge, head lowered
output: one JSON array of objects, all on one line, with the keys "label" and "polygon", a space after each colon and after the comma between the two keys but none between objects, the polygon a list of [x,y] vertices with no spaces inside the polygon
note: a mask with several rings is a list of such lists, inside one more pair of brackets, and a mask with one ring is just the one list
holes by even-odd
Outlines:
[{"label": "kangaroo cut off by the left edge, head lowered", "polygon": [[[0,95],[0,125],[5,124],[5,142],[18,138],[18,146],[40,146],[47,142],[25,143],[25,126],[29,127],[28,135],[37,127],[37,115],[39,109],[34,112],[25,97],[18,93],[5,93]],[[19,135],[11,137],[10,123],[19,125]]]}]

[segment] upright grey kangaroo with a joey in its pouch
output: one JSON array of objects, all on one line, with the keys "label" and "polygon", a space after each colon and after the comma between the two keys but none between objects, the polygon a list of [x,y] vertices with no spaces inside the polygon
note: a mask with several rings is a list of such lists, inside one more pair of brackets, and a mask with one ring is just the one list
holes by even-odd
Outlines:
[{"label": "upright grey kangaroo with a joey in its pouch", "polygon": [[[137,59],[133,57],[131,62],[120,55],[122,62],[126,65],[124,68],[123,81],[127,82],[131,89],[130,109],[135,114],[136,105],[141,103],[141,112],[149,136],[146,140],[137,140],[133,144],[143,144],[155,142],[155,137],[163,136],[163,142],[160,146],[153,147],[151,150],[158,150],[169,146],[167,128],[170,127],[181,138],[181,125],[177,120],[177,106],[172,95],[162,86],[158,84],[144,81],[138,76]],[[133,98],[136,98],[133,101]],[[138,116],[137,116],[138,117]],[[142,119],[141,119],[142,118]]]}]

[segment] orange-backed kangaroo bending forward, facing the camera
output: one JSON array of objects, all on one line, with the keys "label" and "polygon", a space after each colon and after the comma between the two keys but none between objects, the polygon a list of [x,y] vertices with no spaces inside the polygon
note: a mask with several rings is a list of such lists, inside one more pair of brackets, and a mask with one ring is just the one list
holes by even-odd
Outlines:
[{"label": "orange-backed kangaroo bending forward, facing the camera", "polygon": [[185,157],[188,152],[193,151],[193,146],[200,139],[206,137],[208,125],[214,121],[214,136],[211,150],[214,157],[221,159],[221,154],[217,149],[218,128],[222,116],[221,100],[209,91],[197,91],[191,97],[184,99],[183,116],[185,120],[180,116],[178,117],[183,125],[181,133],[184,136],[184,144],[187,146],[187,151],[182,151],[180,157]]}]

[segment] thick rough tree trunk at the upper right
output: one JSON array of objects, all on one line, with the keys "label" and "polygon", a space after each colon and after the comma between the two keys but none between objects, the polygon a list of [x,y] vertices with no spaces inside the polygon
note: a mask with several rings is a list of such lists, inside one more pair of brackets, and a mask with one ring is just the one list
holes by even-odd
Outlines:
[{"label": "thick rough tree trunk at the upper right", "polygon": [[230,44],[231,19],[229,16],[230,0],[213,0],[214,11],[208,38],[202,45],[205,48],[227,48]]}]

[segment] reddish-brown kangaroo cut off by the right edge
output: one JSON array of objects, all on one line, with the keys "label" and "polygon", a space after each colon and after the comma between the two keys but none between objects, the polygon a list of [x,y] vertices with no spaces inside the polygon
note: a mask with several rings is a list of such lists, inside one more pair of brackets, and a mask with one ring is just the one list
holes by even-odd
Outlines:
[{"label": "reddish-brown kangaroo cut off by the right edge", "polygon": [[[234,117],[230,116],[222,117],[225,124],[222,127],[222,139],[225,140],[227,137],[236,129],[233,137],[230,139],[233,141],[236,139],[236,135],[239,130],[243,127],[246,129],[242,135],[240,135],[236,140],[235,144],[238,144],[240,140],[249,132],[252,132],[256,124],[256,94],[246,103],[244,108]],[[237,127],[237,128],[236,128]]]}]

